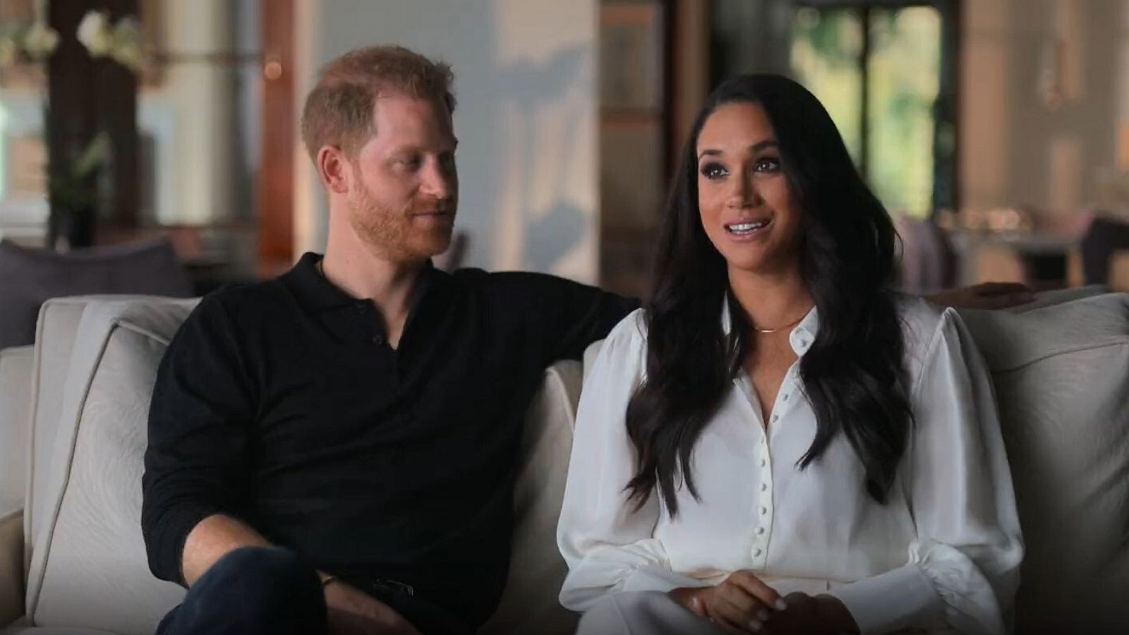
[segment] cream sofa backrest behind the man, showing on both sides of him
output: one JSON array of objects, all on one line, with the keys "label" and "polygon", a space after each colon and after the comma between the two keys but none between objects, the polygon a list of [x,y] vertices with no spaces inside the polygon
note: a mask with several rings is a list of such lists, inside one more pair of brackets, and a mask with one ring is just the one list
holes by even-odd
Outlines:
[{"label": "cream sofa backrest behind the man, showing on both sides of him", "polygon": [[[157,365],[194,304],[67,298],[44,307],[41,322],[50,328],[40,339],[41,366],[62,355],[60,342],[73,349],[64,376],[41,381],[40,388],[40,407],[53,408],[38,414],[36,426],[43,429],[34,435],[49,447],[34,449],[36,482],[29,488],[27,615],[33,624],[149,635],[182,599],[183,589],[149,573],[140,482]],[[72,332],[61,332],[54,314],[60,311],[67,318],[78,311],[77,323],[69,322]],[[575,617],[557,601],[566,569],[555,525],[579,390],[580,364],[558,363],[531,405],[515,493],[510,580],[485,634],[564,635],[575,628]]]}]

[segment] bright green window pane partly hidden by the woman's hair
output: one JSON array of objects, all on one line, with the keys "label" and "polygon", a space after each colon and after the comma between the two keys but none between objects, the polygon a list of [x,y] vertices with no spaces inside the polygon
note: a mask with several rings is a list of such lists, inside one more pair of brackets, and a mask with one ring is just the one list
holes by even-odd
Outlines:
[{"label": "bright green window pane partly hidden by the woman's hair", "polygon": [[861,150],[863,24],[854,9],[804,7],[793,25],[796,80],[823,102],[856,163]]}]

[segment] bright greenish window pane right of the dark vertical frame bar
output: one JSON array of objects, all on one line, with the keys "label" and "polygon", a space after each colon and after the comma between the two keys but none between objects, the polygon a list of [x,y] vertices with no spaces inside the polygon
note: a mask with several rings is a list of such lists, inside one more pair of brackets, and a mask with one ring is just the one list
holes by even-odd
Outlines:
[{"label": "bright greenish window pane right of the dark vertical frame bar", "polygon": [[940,15],[931,7],[872,9],[867,180],[891,214],[929,215]]}]

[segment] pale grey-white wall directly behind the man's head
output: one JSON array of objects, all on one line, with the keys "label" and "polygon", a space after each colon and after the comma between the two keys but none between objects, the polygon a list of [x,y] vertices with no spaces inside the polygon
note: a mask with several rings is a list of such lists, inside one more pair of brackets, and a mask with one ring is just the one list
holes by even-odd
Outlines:
[{"label": "pale grey-white wall directly behind the man's head", "polygon": [[[466,266],[597,273],[596,0],[299,0],[297,90],[364,45],[402,44],[455,71]],[[325,205],[298,148],[297,251]]]}]

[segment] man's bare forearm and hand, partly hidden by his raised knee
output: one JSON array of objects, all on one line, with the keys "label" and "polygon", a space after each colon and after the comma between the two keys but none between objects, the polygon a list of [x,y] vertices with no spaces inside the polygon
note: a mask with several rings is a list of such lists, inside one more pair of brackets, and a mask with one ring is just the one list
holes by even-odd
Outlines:
[{"label": "man's bare forearm and hand, partly hidden by his raised knee", "polygon": [[[181,571],[189,586],[196,583],[220,558],[242,547],[271,547],[247,523],[224,514],[212,514],[196,523],[184,541]],[[325,592],[330,633],[365,633],[378,627],[382,633],[419,635],[400,614],[370,595],[317,572]],[[326,583],[326,581],[329,581]]]}]

